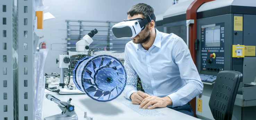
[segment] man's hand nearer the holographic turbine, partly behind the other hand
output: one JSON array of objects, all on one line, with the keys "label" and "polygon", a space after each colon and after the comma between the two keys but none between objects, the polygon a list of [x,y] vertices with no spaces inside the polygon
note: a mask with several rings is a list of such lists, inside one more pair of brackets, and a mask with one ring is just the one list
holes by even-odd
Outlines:
[{"label": "man's hand nearer the holographic turbine, partly behind the other hand", "polygon": [[143,99],[148,96],[150,95],[148,95],[147,93],[143,93],[142,91],[135,92],[130,96],[131,103],[139,105],[143,101]]}]

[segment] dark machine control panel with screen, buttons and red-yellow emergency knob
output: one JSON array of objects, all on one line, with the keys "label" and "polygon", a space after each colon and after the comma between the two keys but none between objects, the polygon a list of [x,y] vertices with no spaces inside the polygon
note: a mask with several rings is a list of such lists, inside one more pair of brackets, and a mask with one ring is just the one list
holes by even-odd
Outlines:
[{"label": "dark machine control panel with screen, buttons and red-yellow emergency knob", "polygon": [[224,23],[201,26],[201,70],[224,70]]}]

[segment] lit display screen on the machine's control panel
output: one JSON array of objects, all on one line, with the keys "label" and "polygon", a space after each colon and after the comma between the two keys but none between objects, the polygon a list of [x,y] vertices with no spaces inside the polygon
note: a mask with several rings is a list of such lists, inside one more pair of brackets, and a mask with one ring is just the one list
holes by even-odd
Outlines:
[{"label": "lit display screen on the machine's control panel", "polygon": [[219,47],[220,46],[220,26],[205,28],[205,47]]}]

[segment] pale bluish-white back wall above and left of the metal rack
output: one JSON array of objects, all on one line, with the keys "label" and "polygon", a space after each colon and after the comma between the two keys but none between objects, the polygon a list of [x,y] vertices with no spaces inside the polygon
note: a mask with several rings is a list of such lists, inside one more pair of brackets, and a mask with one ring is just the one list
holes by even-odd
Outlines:
[{"label": "pale bluish-white back wall above and left of the metal rack", "polygon": [[[186,0],[179,0],[183,2]],[[38,36],[44,35],[39,43],[45,41],[46,48],[49,49],[45,61],[44,72],[60,72],[56,58],[59,54],[66,54],[66,46],[54,45],[52,43],[67,43],[67,23],[66,19],[74,20],[112,20],[121,21],[127,18],[126,12],[136,3],[146,3],[154,8],[155,15],[163,14],[170,6],[173,0],[44,0],[44,6],[50,8],[44,10],[50,12],[56,19],[44,21],[43,29],[37,29]]]}]

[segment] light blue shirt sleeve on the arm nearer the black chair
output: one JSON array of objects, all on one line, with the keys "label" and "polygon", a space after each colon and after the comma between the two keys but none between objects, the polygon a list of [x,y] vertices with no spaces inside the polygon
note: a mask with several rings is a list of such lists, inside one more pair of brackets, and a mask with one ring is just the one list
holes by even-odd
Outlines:
[{"label": "light blue shirt sleeve on the arm nearer the black chair", "polygon": [[178,38],[174,43],[171,54],[173,61],[179,67],[180,77],[186,84],[178,91],[168,95],[172,100],[172,107],[176,107],[188,103],[202,93],[203,83],[191,58],[189,49],[181,38]]}]

